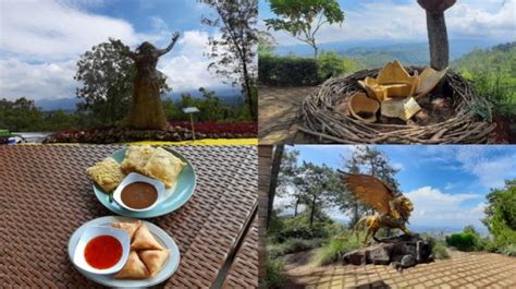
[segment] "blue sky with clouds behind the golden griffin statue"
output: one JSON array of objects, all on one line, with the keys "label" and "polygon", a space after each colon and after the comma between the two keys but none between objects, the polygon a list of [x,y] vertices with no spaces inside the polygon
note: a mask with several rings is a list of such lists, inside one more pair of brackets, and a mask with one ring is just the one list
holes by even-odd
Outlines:
[{"label": "blue sky with clouds behind the golden griffin statue", "polygon": [[[503,188],[516,178],[516,146],[509,145],[379,145],[400,169],[396,179],[401,190],[415,203],[413,226],[462,228],[469,224],[483,229],[486,194],[491,188]],[[342,168],[355,146],[296,145],[287,149],[300,152],[299,161],[325,164]],[[288,200],[279,200],[282,206]],[[334,208],[336,218],[347,218]]]}]

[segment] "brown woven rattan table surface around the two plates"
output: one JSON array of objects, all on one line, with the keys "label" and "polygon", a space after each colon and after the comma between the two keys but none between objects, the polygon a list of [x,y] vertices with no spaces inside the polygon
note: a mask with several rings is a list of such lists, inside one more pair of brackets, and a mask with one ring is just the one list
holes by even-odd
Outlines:
[{"label": "brown woven rattan table surface around the two plates", "polygon": [[[98,287],[67,257],[82,224],[113,215],[95,197],[85,169],[119,145],[0,146],[0,284],[13,287]],[[255,146],[174,146],[194,165],[197,188],[182,208],[148,219],[176,241],[181,263],[160,286],[208,288],[235,253],[257,205]],[[247,231],[253,234],[254,229]],[[249,236],[249,232],[247,234]],[[248,240],[248,238],[246,238]],[[244,241],[231,274],[249,255]],[[249,276],[256,272],[256,277]],[[246,272],[257,280],[257,270]],[[241,284],[246,287],[245,284]],[[250,284],[247,284],[250,285]],[[254,285],[254,284],[253,284]]]}]

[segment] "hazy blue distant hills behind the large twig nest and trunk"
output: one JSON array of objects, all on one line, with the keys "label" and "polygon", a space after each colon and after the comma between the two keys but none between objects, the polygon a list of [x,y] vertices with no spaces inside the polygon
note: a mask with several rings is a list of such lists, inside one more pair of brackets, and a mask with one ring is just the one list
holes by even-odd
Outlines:
[{"label": "hazy blue distant hills behind the large twig nest and trunk", "polygon": [[[488,48],[496,43],[483,39],[451,39],[450,59],[457,59],[475,48]],[[394,41],[371,40],[322,44],[321,50],[335,51],[364,63],[366,68],[381,67],[392,60],[400,60],[404,64],[426,65],[430,62],[428,43],[426,41]],[[307,45],[278,47],[279,55],[293,53],[310,57],[314,52]]]}]

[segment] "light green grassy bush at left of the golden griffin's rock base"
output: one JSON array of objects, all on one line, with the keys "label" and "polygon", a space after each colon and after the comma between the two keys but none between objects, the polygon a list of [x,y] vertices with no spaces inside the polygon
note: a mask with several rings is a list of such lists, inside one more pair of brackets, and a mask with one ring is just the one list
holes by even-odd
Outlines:
[{"label": "light green grassy bush at left of the golden griffin's rock base", "polygon": [[360,242],[355,234],[333,238],[316,252],[312,263],[317,266],[328,265],[339,261],[345,253],[358,248],[360,248]]}]

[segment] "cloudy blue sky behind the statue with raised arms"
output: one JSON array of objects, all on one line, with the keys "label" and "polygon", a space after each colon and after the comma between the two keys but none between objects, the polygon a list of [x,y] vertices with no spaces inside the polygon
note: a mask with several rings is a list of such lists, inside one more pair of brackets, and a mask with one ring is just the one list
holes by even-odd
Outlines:
[{"label": "cloudy blue sky behind the statue with raised arms", "polygon": [[207,71],[207,40],[219,32],[201,15],[214,13],[194,0],[1,0],[0,97],[75,97],[75,63],[91,46],[114,37],[165,47],[175,31],[179,43],[158,64],[173,91],[226,91]]}]

